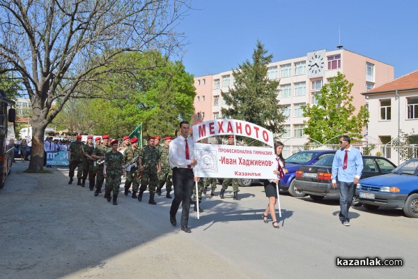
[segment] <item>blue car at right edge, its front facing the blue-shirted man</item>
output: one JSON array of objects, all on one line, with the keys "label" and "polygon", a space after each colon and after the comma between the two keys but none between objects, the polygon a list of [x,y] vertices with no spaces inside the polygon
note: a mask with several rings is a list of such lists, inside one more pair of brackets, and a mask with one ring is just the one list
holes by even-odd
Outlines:
[{"label": "blue car at right edge, its front facing the blue-shirted man", "polygon": [[366,209],[403,209],[405,216],[418,218],[418,158],[406,161],[390,174],[363,179],[357,184],[355,197]]}]

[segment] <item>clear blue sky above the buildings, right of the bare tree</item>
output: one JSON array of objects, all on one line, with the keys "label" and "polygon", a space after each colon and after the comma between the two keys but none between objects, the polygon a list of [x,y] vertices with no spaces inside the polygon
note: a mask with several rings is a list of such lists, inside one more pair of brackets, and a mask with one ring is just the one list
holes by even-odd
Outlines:
[{"label": "clear blue sky above the buildings, right of the bare tree", "polygon": [[416,0],[193,0],[178,27],[187,36],[183,64],[195,77],[239,68],[265,45],[272,62],[343,48],[418,70]]}]

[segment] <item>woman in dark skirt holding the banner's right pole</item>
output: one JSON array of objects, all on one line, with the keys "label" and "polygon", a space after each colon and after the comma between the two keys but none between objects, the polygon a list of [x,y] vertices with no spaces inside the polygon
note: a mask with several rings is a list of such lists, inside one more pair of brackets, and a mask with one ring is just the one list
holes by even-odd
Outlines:
[{"label": "woman in dark skirt holding the banner's right pole", "polygon": [[[279,201],[279,184],[280,179],[283,178],[284,173],[286,172],[285,162],[283,155],[281,152],[283,151],[284,144],[282,142],[275,142],[274,143],[274,151],[276,153],[276,160],[275,160],[275,167],[273,173],[277,175],[277,179],[273,180],[265,180],[264,181],[264,190],[265,196],[268,197],[268,206],[265,209],[262,217],[264,223],[268,223],[268,213],[272,217],[272,225],[274,228],[279,229],[279,223],[277,222],[276,218],[276,203]],[[279,202],[279,216],[281,217],[281,209],[280,209],[280,202]]]}]

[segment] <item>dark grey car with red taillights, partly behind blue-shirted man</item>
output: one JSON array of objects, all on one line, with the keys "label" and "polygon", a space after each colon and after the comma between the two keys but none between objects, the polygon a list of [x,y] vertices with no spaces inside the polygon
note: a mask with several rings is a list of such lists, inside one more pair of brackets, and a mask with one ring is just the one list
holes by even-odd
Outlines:
[{"label": "dark grey car with red taillights, partly behind blue-shirted man", "polygon": [[[387,158],[378,156],[362,156],[363,172],[360,180],[367,177],[388,174],[396,165]],[[314,165],[299,167],[296,171],[295,188],[314,200],[324,197],[339,197],[339,188],[332,187],[332,161],[334,156],[318,160]]]}]

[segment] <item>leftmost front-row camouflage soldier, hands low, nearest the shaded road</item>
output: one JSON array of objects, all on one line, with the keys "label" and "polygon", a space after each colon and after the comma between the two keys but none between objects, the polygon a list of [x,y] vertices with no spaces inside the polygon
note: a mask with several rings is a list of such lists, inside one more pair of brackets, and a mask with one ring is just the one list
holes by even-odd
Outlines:
[{"label": "leftmost front-row camouflage soldier, hands low, nearest the shaded road", "polygon": [[106,196],[107,202],[111,201],[110,193],[113,190],[114,205],[118,205],[119,186],[121,176],[125,176],[125,164],[123,155],[118,151],[118,140],[113,140],[110,144],[111,151],[106,153],[104,158],[103,176],[106,177]]}]

